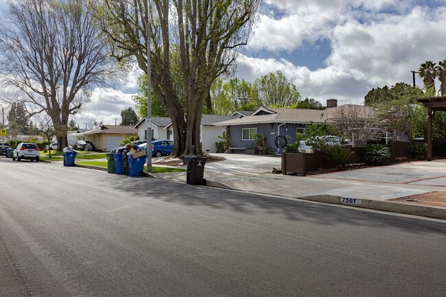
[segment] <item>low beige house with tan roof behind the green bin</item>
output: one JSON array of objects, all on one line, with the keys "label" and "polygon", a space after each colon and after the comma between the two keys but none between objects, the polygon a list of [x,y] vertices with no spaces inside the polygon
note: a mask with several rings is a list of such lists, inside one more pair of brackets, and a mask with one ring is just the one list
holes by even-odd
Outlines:
[{"label": "low beige house with tan roof behind the green bin", "polygon": [[82,134],[85,136],[84,140],[89,140],[95,145],[96,150],[109,152],[111,149],[121,146],[119,141],[122,141],[125,136],[138,134],[138,130],[131,126],[102,125],[98,129],[89,130]]}]

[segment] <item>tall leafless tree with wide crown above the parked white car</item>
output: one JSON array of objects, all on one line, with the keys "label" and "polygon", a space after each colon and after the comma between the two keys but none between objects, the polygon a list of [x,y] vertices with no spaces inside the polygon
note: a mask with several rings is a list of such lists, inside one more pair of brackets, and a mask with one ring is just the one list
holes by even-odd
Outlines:
[{"label": "tall leafless tree with wide crown above the parked white car", "polygon": [[49,115],[59,147],[67,146],[69,116],[115,71],[92,14],[90,1],[15,0],[0,31],[4,83],[25,94],[30,115]]}]

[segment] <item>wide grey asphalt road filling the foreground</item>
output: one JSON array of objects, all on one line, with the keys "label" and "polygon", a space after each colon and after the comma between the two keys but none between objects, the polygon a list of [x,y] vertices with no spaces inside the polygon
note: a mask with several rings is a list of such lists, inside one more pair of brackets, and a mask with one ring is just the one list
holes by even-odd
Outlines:
[{"label": "wide grey asphalt road filling the foreground", "polygon": [[0,296],[445,296],[446,224],[0,158]]}]

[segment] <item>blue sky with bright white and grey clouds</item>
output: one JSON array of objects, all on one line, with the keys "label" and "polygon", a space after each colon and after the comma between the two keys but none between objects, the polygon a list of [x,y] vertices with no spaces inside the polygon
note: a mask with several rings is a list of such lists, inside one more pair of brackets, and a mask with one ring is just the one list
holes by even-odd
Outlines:
[{"label": "blue sky with bright white and grey clouds", "polygon": [[[410,71],[446,59],[445,16],[446,0],[263,0],[235,76],[254,82],[281,71],[303,98],[363,104],[372,88],[412,84]],[[119,124],[121,110],[134,108],[140,73],[115,89],[95,89],[78,125]],[[418,75],[415,83],[423,87]]]}]

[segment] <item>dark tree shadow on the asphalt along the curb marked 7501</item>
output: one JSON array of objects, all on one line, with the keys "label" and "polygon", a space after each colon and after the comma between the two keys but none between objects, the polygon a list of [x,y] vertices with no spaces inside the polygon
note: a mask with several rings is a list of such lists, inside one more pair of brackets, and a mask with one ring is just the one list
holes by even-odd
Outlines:
[{"label": "dark tree shadow on the asphalt along the curb marked 7501", "polygon": [[[428,226],[430,232],[446,232],[446,224],[410,217],[397,217],[362,209],[348,209],[333,204],[319,204],[301,200],[283,199],[255,193],[244,193],[205,186],[186,185],[182,182],[156,178],[130,178],[114,180],[115,190],[126,193],[125,200],[145,203],[148,199],[180,204],[200,211],[235,211],[248,217],[273,215],[274,219],[311,222],[323,226],[355,224],[383,228],[399,228],[410,233],[422,233]],[[419,228],[414,228],[414,224]]]}]

